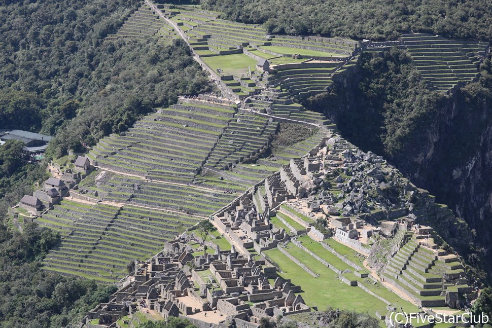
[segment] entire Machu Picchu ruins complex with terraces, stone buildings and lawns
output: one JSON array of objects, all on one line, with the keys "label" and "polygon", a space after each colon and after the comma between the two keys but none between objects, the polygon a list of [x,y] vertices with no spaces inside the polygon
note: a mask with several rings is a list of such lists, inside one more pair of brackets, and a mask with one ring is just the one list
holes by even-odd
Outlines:
[{"label": "entire Machu Picchu ruins complex with terraces, stone buildings and lawns", "polygon": [[[262,318],[322,327],[319,311],[332,308],[404,328],[392,313],[469,312],[480,284],[453,242],[476,232],[307,103],[344,84],[363,54],[389,49],[405,51],[424,90],[452,95],[478,81],[488,42],[287,35],[195,3],[145,0],[127,14],[104,37],[108,52],[132,40],[185,45],[209,86],[69,149],[9,208],[19,230],[59,233],[43,272],[118,288],[80,328],[170,317],[195,328],[265,328]],[[23,140],[32,162],[50,151],[51,136],[9,130],[0,144]]]}]

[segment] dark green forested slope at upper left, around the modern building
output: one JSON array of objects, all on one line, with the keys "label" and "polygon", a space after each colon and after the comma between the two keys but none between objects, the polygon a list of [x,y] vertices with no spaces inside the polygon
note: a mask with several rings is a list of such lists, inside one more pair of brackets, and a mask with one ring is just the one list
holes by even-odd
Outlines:
[{"label": "dark green forested slope at upper left, around the modern building", "polygon": [[[0,122],[58,135],[49,156],[125,130],[155,106],[207,88],[182,43],[104,42],[140,2],[37,1],[0,11]],[[48,157],[49,157],[48,156]],[[43,176],[25,159],[0,173],[0,213]],[[0,159],[0,164],[4,158]],[[7,165],[7,164],[5,164]],[[26,177],[26,172],[27,177]],[[36,174],[34,174],[36,173]],[[4,198],[5,197],[5,198]]]}]

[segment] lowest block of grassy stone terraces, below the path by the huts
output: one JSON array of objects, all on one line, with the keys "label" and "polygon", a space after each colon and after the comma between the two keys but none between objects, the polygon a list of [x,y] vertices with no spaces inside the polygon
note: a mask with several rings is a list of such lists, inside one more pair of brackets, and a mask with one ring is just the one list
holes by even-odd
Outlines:
[{"label": "lowest block of grassy stone terraces, below the path by the huts", "polygon": [[61,245],[43,261],[44,269],[116,282],[129,262],[148,259],[198,220],[165,210],[64,200],[36,222],[62,234]]}]

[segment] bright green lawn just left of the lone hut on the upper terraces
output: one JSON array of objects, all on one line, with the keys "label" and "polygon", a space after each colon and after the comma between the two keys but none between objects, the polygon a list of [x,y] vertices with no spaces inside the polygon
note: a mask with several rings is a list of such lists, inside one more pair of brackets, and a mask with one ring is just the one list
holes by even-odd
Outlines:
[{"label": "bright green lawn just left of the lone hut on the upper terraces", "polygon": [[204,57],[202,60],[214,71],[221,68],[223,75],[240,77],[242,74],[249,74],[248,67],[251,70],[256,69],[256,60],[244,54]]}]

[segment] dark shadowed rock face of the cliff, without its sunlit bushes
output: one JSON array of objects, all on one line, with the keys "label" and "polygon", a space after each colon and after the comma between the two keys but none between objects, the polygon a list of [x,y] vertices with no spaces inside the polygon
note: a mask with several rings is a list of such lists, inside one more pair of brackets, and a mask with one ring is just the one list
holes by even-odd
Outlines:
[{"label": "dark shadowed rock face of the cliff, without its sunlit bushes", "polygon": [[[367,62],[362,64],[367,65]],[[486,65],[489,69],[490,62],[486,61]],[[364,151],[383,155],[416,186],[429,190],[436,196],[436,203],[448,205],[456,216],[468,223],[472,233],[476,233],[476,238],[471,237],[477,242],[477,248],[481,247],[481,253],[490,256],[492,83],[488,71],[482,69],[479,82],[455,90],[451,95],[436,96],[424,124],[409,126],[409,137],[398,152],[390,154],[382,136],[389,130],[388,111],[383,107],[393,106],[401,99],[392,95],[385,99],[384,104],[379,104],[381,107],[371,100],[364,105],[367,90],[364,89],[364,72],[361,70],[359,67],[339,77],[331,94],[323,101],[308,105],[323,110],[337,123],[342,135],[354,144]],[[380,77],[374,76],[374,79]],[[354,123],[357,120],[363,123],[357,126]],[[450,236],[459,240],[460,227],[451,221],[442,224]],[[447,233],[440,231],[443,237]],[[469,259],[472,264],[480,261],[476,256]],[[489,261],[481,262],[488,266],[490,274],[492,266],[486,263]]]}]

